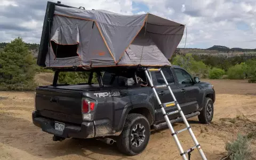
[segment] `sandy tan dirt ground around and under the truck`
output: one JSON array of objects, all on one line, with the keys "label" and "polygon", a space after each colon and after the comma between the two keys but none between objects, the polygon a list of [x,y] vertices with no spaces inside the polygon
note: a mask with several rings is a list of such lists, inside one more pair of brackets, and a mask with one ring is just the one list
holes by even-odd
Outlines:
[{"label": "sandy tan dirt ground around and under the truck", "polygon": [[[40,85],[51,83],[51,74],[36,77]],[[42,80],[43,79],[43,80]],[[213,122],[199,124],[197,117],[189,123],[208,159],[220,159],[225,155],[225,143],[236,138],[238,132],[256,131],[256,84],[246,81],[208,80],[216,91]],[[34,126],[31,112],[34,109],[34,92],[0,92],[0,159],[181,159],[169,130],[152,131],[149,144],[137,156],[120,154],[115,145],[109,146],[97,140],[66,139],[52,141],[52,135]],[[174,124],[175,130],[185,128]],[[193,145],[188,132],[178,135],[183,149]],[[256,141],[251,140],[256,150]],[[255,154],[253,155],[256,159]],[[201,159],[197,150],[191,159]]]}]

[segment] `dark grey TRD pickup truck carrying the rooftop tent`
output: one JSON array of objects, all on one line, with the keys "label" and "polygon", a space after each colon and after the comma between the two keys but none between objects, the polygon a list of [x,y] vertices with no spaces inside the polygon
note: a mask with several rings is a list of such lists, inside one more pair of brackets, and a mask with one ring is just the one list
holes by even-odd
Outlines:
[{"label": "dark grey TRD pickup truck carrying the rooftop tent", "polygon": [[[185,116],[198,116],[199,122],[210,123],[213,85],[200,82],[179,66],[161,69]],[[61,71],[55,71],[52,85],[36,88],[32,114],[33,123],[53,134],[54,141],[95,138],[108,144],[116,142],[122,153],[137,155],[146,148],[150,130],[167,126],[143,68],[84,70],[90,72],[87,83],[74,85],[57,83]],[[95,75],[98,84],[92,83]],[[154,85],[165,84],[161,73],[151,72],[150,76]],[[138,77],[145,83],[139,83]],[[162,103],[173,101],[167,87],[156,91]],[[177,109],[171,106],[165,110],[169,113]],[[179,116],[170,115],[171,123],[180,122]]]}]

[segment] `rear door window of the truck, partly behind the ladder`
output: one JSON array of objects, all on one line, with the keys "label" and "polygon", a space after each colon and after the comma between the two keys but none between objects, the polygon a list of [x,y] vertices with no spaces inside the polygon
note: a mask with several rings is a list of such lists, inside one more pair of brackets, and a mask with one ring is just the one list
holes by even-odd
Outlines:
[{"label": "rear door window of the truck, partly behind the ladder", "polygon": [[[162,68],[163,74],[168,82],[168,84],[174,83],[174,78],[172,75],[172,71],[170,68]],[[154,85],[164,85],[164,78],[160,72],[152,72],[155,74],[155,78],[153,79]],[[154,76],[153,76],[154,77]]]}]

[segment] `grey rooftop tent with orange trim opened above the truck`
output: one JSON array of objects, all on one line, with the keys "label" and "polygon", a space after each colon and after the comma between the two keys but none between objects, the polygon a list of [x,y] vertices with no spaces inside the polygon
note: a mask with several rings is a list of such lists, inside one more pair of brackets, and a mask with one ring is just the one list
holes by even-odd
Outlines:
[{"label": "grey rooftop tent with orange trim opened above the truck", "polygon": [[[46,20],[50,16],[51,23]],[[185,27],[153,14],[121,15],[57,4],[52,15],[46,11],[46,18],[37,63],[51,68],[171,65],[167,59]]]}]

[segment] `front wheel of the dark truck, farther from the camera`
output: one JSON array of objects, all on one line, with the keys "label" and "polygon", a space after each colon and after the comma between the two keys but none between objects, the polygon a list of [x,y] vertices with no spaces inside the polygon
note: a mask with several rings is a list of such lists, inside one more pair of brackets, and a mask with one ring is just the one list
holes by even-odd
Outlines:
[{"label": "front wheel of the dark truck, farther from the camera", "polygon": [[210,98],[205,99],[205,105],[198,115],[198,120],[201,123],[208,124],[213,118],[213,101]]}]

